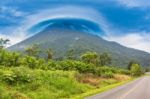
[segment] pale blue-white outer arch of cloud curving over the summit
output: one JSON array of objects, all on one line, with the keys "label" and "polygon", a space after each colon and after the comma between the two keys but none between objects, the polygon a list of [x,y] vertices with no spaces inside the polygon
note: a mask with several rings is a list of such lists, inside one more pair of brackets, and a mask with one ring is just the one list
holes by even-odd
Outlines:
[{"label": "pale blue-white outer arch of cloud curving over the summit", "polygon": [[100,12],[91,7],[82,6],[60,6],[39,10],[37,13],[28,16],[24,24],[27,24],[26,28],[31,28],[39,22],[57,18],[85,19],[99,24],[100,28],[106,33],[111,32],[109,30],[112,30],[110,29],[111,24],[107,22],[107,19],[105,19]]}]

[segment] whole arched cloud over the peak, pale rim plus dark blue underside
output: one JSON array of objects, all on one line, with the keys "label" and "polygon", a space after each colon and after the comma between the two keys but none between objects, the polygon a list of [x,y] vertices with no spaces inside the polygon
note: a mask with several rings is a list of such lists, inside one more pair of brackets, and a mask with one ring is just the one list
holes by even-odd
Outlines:
[{"label": "whole arched cloud over the peak, pale rim plus dark blue underside", "polygon": [[[39,29],[43,29],[53,23],[63,22],[71,24],[72,22],[74,24],[75,21],[80,26],[91,28],[91,32],[97,33],[98,35],[100,35],[99,33],[101,31],[103,33],[109,31],[108,28],[110,27],[106,19],[96,9],[81,6],[58,7],[39,11],[37,14],[29,16],[25,24],[31,24],[27,29],[30,31],[37,28],[37,26]],[[101,30],[98,30],[98,28]],[[32,31],[32,33],[35,32]]]}]

